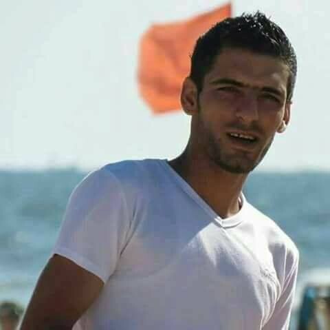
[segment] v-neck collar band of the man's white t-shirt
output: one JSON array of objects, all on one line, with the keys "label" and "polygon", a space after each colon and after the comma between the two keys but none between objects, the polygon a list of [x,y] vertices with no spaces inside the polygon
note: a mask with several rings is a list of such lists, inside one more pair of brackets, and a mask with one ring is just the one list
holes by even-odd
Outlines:
[{"label": "v-neck collar band of the man's white t-shirt", "polygon": [[210,207],[210,205],[208,205],[208,203],[206,203],[206,201],[203,200],[203,198],[201,198],[201,196],[199,196],[199,194],[197,194],[194,189],[192,189],[192,187],[184,180],[184,178],[181,178],[181,176],[179,176],[179,174],[175,172],[175,170],[168,164],[167,159],[159,159],[159,164],[162,165],[164,169],[166,169],[166,172],[174,179],[175,183],[177,183],[177,185],[179,185],[179,187],[181,187],[181,189],[183,189],[186,194],[188,194],[193,200],[195,200],[195,202],[200,207],[202,207],[209,214],[209,216],[211,216],[212,219],[221,227],[234,227],[236,225],[239,225],[243,221],[243,214],[245,213],[245,209],[247,206],[247,201],[243,193],[241,193],[240,195],[241,209],[239,209],[239,212],[228,218],[221,218],[221,216],[214,212],[212,207]]}]

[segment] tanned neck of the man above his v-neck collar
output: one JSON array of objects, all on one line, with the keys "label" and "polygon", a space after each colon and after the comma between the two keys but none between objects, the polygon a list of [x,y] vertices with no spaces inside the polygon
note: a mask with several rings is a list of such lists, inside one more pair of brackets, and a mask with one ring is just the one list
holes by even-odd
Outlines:
[{"label": "tanned neck of the man above his v-neck collar", "polygon": [[248,174],[232,174],[187,151],[168,164],[221,218],[239,212],[239,197]]}]

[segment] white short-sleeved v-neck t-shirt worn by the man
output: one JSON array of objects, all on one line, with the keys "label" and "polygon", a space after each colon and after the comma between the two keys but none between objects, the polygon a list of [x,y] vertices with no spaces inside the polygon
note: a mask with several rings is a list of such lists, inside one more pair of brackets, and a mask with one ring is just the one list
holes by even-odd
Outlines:
[{"label": "white short-sleeved v-neck t-shirt worn by the man", "polygon": [[89,174],[53,251],[104,282],[74,329],[288,329],[298,250],[241,200],[220,218],[164,160]]}]

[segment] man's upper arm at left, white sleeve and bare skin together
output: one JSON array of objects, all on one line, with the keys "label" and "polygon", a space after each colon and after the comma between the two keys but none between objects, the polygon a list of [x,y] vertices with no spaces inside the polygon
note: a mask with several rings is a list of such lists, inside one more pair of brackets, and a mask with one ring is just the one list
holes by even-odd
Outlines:
[{"label": "man's upper arm at left, white sleeve and bare skin together", "polygon": [[[74,189],[52,258],[43,269],[21,330],[72,329],[113,271],[129,228],[124,193],[99,170]],[[60,326],[61,325],[61,326]]]}]

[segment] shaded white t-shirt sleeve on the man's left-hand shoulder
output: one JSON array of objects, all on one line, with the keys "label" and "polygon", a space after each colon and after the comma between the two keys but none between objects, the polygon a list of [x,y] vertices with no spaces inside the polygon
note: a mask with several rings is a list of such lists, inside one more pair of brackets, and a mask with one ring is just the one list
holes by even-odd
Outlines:
[{"label": "shaded white t-shirt sleeve on the man's left-hand shoulder", "polygon": [[52,255],[64,256],[107,282],[129,225],[120,182],[109,170],[99,169],[72,192]]}]

